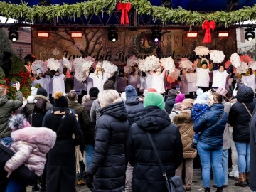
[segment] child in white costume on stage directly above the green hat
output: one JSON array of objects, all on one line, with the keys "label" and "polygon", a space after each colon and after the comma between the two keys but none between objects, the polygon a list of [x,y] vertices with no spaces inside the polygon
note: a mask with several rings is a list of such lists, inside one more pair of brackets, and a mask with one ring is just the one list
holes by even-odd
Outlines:
[{"label": "child in white costume on stage directly above the green hat", "polygon": [[164,69],[163,72],[161,72],[161,68],[156,69],[155,73],[153,71],[150,71],[150,75],[152,77],[151,88],[156,89],[156,91],[161,94],[165,92],[165,88],[164,88],[165,73],[166,73],[166,70]]}]

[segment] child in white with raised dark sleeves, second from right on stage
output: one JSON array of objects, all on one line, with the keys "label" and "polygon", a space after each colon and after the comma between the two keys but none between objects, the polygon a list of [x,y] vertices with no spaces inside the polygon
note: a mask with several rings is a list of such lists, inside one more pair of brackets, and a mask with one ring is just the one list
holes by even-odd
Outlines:
[{"label": "child in white with raised dark sleeves, second from right on stage", "polygon": [[230,75],[233,70],[233,65],[230,65],[227,70],[225,70],[224,65],[218,63],[213,64],[213,85],[212,87],[223,87],[225,88],[228,75]]}]

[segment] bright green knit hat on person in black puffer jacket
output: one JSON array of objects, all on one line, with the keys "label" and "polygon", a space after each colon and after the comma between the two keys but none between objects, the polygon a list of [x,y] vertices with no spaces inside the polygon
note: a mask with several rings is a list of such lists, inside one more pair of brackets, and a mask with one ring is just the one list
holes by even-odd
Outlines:
[{"label": "bright green knit hat on person in black puffer jacket", "polygon": [[159,92],[149,92],[143,102],[144,108],[147,106],[157,106],[164,110],[164,97]]}]

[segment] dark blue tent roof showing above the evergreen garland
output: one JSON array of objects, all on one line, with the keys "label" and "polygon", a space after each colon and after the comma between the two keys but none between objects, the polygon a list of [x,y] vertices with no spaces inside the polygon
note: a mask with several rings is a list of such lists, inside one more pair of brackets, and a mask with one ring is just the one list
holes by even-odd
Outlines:
[{"label": "dark blue tent roof showing above the evergreen garland", "polygon": [[[11,2],[14,4],[20,4],[21,0],[4,0],[6,2]],[[87,1],[87,0],[85,0]],[[51,4],[75,4],[78,2],[85,2],[78,0],[50,0]],[[161,0],[149,0],[154,6],[160,6]],[[225,11],[227,9],[228,0],[172,0],[173,8],[181,6],[183,9],[191,11]],[[23,2],[31,5],[38,5],[38,0],[23,0]],[[243,6],[253,6],[255,0],[239,0],[239,6],[235,9],[240,9]]]}]

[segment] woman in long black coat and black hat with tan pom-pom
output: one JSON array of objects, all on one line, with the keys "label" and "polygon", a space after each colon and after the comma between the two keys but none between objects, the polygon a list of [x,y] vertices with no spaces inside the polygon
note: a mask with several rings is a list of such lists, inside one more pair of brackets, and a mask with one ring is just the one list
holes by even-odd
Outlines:
[{"label": "woman in long black coat and black hat with tan pom-pom", "polygon": [[75,192],[75,146],[82,144],[82,131],[63,92],[55,92],[54,98],[53,110],[46,112],[43,119],[43,127],[57,134],[55,146],[48,153],[46,191]]}]

